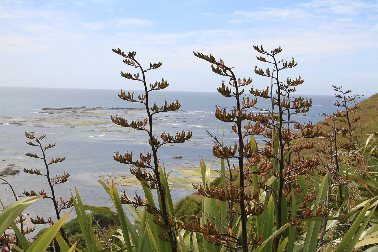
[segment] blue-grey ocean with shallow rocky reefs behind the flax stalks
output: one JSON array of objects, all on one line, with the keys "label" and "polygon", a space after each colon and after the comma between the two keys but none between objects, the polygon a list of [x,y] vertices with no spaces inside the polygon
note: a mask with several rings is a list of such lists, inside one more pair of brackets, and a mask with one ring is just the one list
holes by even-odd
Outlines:
[{"label": "blue-grey ocean with shallow rocky reefs behind the flax stalks", "polygon": [[[42,142],[44,145],[56,143],[54,148],[46,151],[48,159],[66,157],[64,162],[51,165],[50,170],[51,174],[66,171],[71,175],[66,183],[55,186],[58,198],[61,196],[67,199],[70,190],[74,192],[76,187],[84,204],[103,206],[109,197],[97,182],[98,179],[115,179],[120,191],[133,195],[135,190],[139,190],[142,194],[129,167],[113,160],[113,154],[133,151],[138,157],[139,152],[149,150],[147,134],[113,124],[110,117],[119,115],[131,121],[143,118],[145,111],[141,104],[121,100],[117,95],[119,91],[0,87],[0,170],[8,166],[20,170],[16,175],[4,177],[16,193],[22,195],[23,189],[40,191],[45,188],[49,191],[45,177],[22,171],[24,168],[43,171],[44,168],[40,159],[24,154],[40,153],[38,148],[25,143],[28,140],[25,132],[34,132],[36,136],[46,134],[46,139]],[[143,93],[138,90],[132,92],[135,92],[135,98]],[[174,134],[181,129],[193,132],[191,140],[182,144],[165,145],[159,149],[160,163],[164,163],[167,172],[172,171],[172,198],[176,202],[194,192],[190,182],[200,181],[200,157],[203,157],[206,164],[211,163],[212,169],[218,169],[219,160],[212,156],[212,138],[206,131],[222,139],[225,127],[225,144],[230,145],[237,140],[237,136],[231,131],[232,123],[225,124],[214,116],[216,105],[232,109],[234,98],[225,98],[219,93],[164,90],[150,94],[150,101],[156,101],[158,106],[163,106],[164,100],[171,103],[176,98],[181,104],[178,111],[154,115],[155,135],[162,131]],[[302,97],[312,98],[313,105],[306,116],[293,116],[292,120],[316,123],[323,120],[323,112],[332,113],[336,109],[332,103],[336,99],[334,96]],[[270,109],[270,100],[259,99],[256,106]],[[256,109],[250,111],[257,112]],[[257,141],[262,143],[260,137],[257,137]],[[174,156],[182,158],[172,159]],[[7,188],[8,186],[0,184],[0,198],[5,205],[14,201]],[[110,206],[109,202],[107,205]],[[54,217],[48,199],[40,199],[25,212],[32,216],[39,214],[42,217]],[[74,217],[71,214],[70,218]]]}]

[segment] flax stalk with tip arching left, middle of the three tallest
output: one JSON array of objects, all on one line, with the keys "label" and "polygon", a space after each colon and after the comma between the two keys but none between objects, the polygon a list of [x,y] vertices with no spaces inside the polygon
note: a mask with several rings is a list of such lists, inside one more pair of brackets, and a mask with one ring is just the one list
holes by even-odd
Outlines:
[{"label": "flax stalk with tip arching left, middle of the three tallest", "polygon": [[[253,134],[259,134],[261,133],[264,129],[259,127],[259,124],[256,124],[255,127],[253,127],[250,123],[247,124],[244,128],[245,131],[242,131],[242,122],[246,120],[246,112],[243,112],[243,110],[246,110],[248,108],[253,107],[257,100],[254,101],[249,101],[249,97],[247,96],[246,98],[241,99],[241,95],[244,92],[244,89],[240,90],[241,87],[247,86],[252,82],[252,79],[238,79],[236,78],[234,72],[232,71],[232,68],[227,67],[222,59],[220,61],[216,61],[215,58],[210,55],[204,55],[201,53],[194,53],[195,56],[198,58],[204,59],[210,63],[212,63],[212,70],[213,72],[226,76],[230,79],[229,85],[234,89],[234,92],[231,94],[232,89],[229,89],[226,85],[225,82],[222,82],[222,86],[218,88],[218,92],[221,93],[225,97],[234,97],[235,98],[235,103],[236,106],[231,110],[231,112],[227,112],[226,108],[220,108],[220,106],[217,106],[215,109],[215,117],[217,117],[218,120],[223,121],[223,122],[232,122],[234,123],[234,126],[232,126],[232,131],[234,131],[237,134],[237,139],[238,141],[235,142],[235,145],[232,146],[223,146],[219,142],[215,142],[215,146],[213,147],[213,154],[215,157],[225,159],[228,162],[229,165],[229,159],[230,158],[236,158],[237,163],[239,165],[239,169],[235,168],[234,169],[238,171],[239,173],[239,178],[240,178],[240,187],[236,188],[232,184],[232,174],[230,172],[230,177],[228,178],[228,185],[222,185],[220,189],[215,189],[214,186],[212,186],[212,193],[209,192],[208,190],[204,190],[204,187],[208,187],[209,185],[204,185],[202,187],[201,185],[196,187],[198,190],[198,193],[206,196],[206,197],[217,197],[221,201],[228,201],[229,206],[231,206],[234,203],[237,203],[239,205],[238,209],[240,212],[234,212],[232,208],[229,208],[229,213],[228,216],[232,216],[234,213],[240,216],[240,222],[241,222],[241,239],[235,239],[236,243],[235,244],[230,244],[230,240],[226,241],[227,247],[231,250],[239,251],[241,249],[243,252],[248,251],[248,247],[250,246],[249,241],[248,241],[248,230],[247,230],[247,218],[248,215],[251,213],[246,212],[246,203],[249,205],[249,208],[251,208],[251,198],[256,199],[258,196],[252,196],[250,192],[245,191],[245,170],[244,170],[244,162],[246,158],[253,158],[255,157],[258,159],[259,152],[258,151],[251,151],[251,143],[249,141],[244,140],[245,137],[251,136]],[[214,65],[216,67],[214,67]],[[211,134],[210,134],[211,135]],[[216,139],[214,137],[214,139]],[[236,153],[238,155],[236,155]],[[225,198],[225,195],[230,193],[233,190],[237,190],[236,195],[229,195],[228,197]],[[216,196],[216,194],[220,193],[220,195]],[[248,200],[249,198],[249,200]],[[261,214],[261,212],[260,212]],[[223,216],[221,218],[226,218],[226,216]],[[233,218],[228,218],[228,229],[232,227],[232,220]],[[232,233],[226,232],[223,234],[224,236],[232,236]],[[216,245],[222,244],[222,239],[221,240],[215,240],[212,243]]]}]

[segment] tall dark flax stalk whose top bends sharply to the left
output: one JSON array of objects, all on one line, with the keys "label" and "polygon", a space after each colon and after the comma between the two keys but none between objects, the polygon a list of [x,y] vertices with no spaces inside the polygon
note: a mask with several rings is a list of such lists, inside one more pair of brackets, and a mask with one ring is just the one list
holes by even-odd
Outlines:
[{"label": "tall dark flax stalk whose top bends sharply to the left", "polygon": [[[232,92],[232,88],[230,89],[225,85],[225,82],[223,82],[222,86],[218,88],[218,92],[220,92],[225,97],[235,98],[236,106],[233,110],[231,110],[231,113],[227,112],[226,108],[217,106],[215,109],[215,117],[223,122],[234,123],[234,126],[232,126],[232,131],[234,131],[238,135],[239,140],[238,142],[235,142],[234,146],[221,146],[219,143],[216,143],[213,147],[213,154],[215,157],[218,157],[220,159],[228,160],[231,157],[237,159],[237,162],[239,163],[240,187],[236,187],[232,184],[232,182],[229,182],[228,185],[222,184],[220,188],[209,184],[203,185],[203,187],[201,185],[198,187],[196,186],[195,188],[198,190],[199,194],[205,197],[217,198],[220,201],[229,202],[229,205],[239,204],[240,213],[234,212],[234,210],[229,209],[229,214],[230,216],[232,216],[233,214],[240,216],[240,223],[242,226],[241,239],[236,238],[235,234],[232,231],[230,232],[231,229],[229,228],[226,229],[226,232],[219,233],[218,237],[211,237],[209,235],[206,235],[205,237],[207,238],[208,242],[215,245],[226,246],[231,250],[242,249],[244,252],[246,252],[248,251],[247,216],[259,215],[263,210],[261,204],[253,203],[253,201],[259,197],[259,193],[250,193],[245,191],[245,172],[243,166],[244,160],[246,158],[249,158],[255,160],[255,162],[258,162],[260,154],[258,151],[251,149],[251,143],[248,140],[244,141],[244,138],[250,137],[254,134],[259,134],[264,131],[264,127],[260,126],[260,123],[257,123],[254,126],[249,123],[244,127],[245,132],[242,132],[242,122],[247,119],[246,113],[243,113],[242,110],[253,107],[257,102],[256,99],[250,101],[248,96],[246,97],[246,99],[241,100],[241,96],[244,92],[243,86],[249,85],[252,82],[252,79],[244,78],[242,80],[240,78],[236,78],[234,72],[232,71],[232,68],[227,67],[222,59],[220,61],[216,61],[212,55],[207,56],[201,53],[194,53],[194,55],[198,58],[212,63],[213,72],[230,78],[229,84],[234,88],[235,91]],[[226,176],[225,174],[222,175]],[[230,180],[231,177],[232,176],[230,174],[230,177],[227,177],[227,179]],[[248,213],[246,212],[246,205],[247,210],[250,210],[250,212]],[[253,211],[252,208],[255,208],[255,205],[256,209],[254,209],[255,211]],[[222,218],[226,218],[226,216],[223,216]],[[231,222],[231,219],[232,218],[228,218],[228,222]],[[193,226],[192,228],[191,225]],[[207,226],[208,229],[213,229],[211,231],[212,233],[216,232],[215,230],[217,230],[216,225],[211,224],[209,221],[208,223],[204,224],[204,226]],[[230,226],[232,226],[231,223],[228,224],[228,227]],[[195,226],[195,224],[188,224],[184,228],[194,231],[197,227]],[[225,227],[223,227],[223,229],[225,229]],[[234,241],[231,243],[229,238],[234,238]]]}]

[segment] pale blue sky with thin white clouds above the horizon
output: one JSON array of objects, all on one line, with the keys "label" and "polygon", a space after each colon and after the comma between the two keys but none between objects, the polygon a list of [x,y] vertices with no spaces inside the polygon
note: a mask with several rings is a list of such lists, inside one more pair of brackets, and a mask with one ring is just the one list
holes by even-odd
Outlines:
[{"label": "pale blue sky with thin white clouds above the horizon", "polygon": [[333,95],[332,85],[366,96],[378,93],[378,1],[7,1],[0,0],[0,86],[141,90],[136,73],[112,51],[136,51],[149,83],[164,77],[170,91],[216,92],[222,76],[193,51],[212,54],[237,78],[257,76],[253,45],[281,47],[279,59],[298,65],[297,94]]}]

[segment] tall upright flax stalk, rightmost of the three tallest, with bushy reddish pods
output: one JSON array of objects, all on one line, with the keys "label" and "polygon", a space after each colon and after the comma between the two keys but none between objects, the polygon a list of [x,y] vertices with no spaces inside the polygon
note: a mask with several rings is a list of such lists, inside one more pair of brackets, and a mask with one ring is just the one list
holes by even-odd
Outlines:
[{"label": "tall upright flax stalk, rightmost of the three tallest, with bushy reddish pods", "polygon": [[[324,187],[324,183],[322,184],[323,187],[318,191],[308,194],[308,188],[304,181],[304,176],[311,173],[311,171],[317,167],[319,159],[314,157],[313,159],[305,160],[299,155],[302,150],[311,149],[314,145],[310,142],[303,142],[297,145],[300,138],[306,140],[319,137],[322,134],[322,129],[314,127],[312,123],[301,124],[291,119],[291,115],[293,114],[304,114],[308,112],[312,104],[311,99],[291,97],[291,93],[296,91],[296,86],[304,82],[301,76],[296,79],[287,77],[285,81],[281,81],[280,79],[280,72],[282,70],[293,68],[297,63],[294,62],[294,59],[291,61],[286,61],[285,59],[277,60],[276,55],[282,51],[281,48],[271,50],[270,52],[257,46],[254,46],[254,49],[264,55],[260,57],[257,56],[259,61],[266,62],[273,66],[273,71],[270,71],[269,68],[266,68],[264,71],[261,68],[255,67],[255,73],[270,78],[274,87],[276,87],[276,90],[271,89],[270,92],[268,88],[265,90],[251,89],[251,93],[261,98],[271,99],[272,105],[274,105],[273,107],[276,107],[278,110],[276,114],[269,113],[268,116],[263,116],[265,117],[263,120],[266,122],[264,125],[269,129],[264,134],[268,139],[268,147],[263,150],[263,155],[271,160],[273,164],[273,176],[277,177],[277,180],[273,182],[270,188],[270,191],[275,197],[277,229],[287,224],[289,221],[292,224],[300,224],[301,219],[308,219],[313,216],[326,216],[328,210],[324,206],[322,207],[319,202],[322,193],[320,189]],[[273,93],[273,91],[275,91],[275,93]],[[323,181],[326,179],[327,175],[325,175]],[[316,179],[316,184],[317,183],[318,181]],[[319,185],[316,187],[318,189]],[[296,195],[300,196],[299,199],[301,199],[299,205],[294,205],[297,202],[297,199],[295,199]],[[288,197],[291,197],[291,201]],[[317,200],[315,200],[316,197],[318,197]],[[308,204],[314,204],[312,211]],[[289,212],[288,206],[290,205],[292,209]],[[294,207],[296,208],[295,210]],[[296,210],[299,210],[301,213],[297,215]],[[288,219],[288,216],[290,216],[291,219]],[[291,232],[288,240],[289,251],[294,246],[294,228],[295,227],[291,227],[289,231]],[[282,238],[285,238],[287,235],[287,233],[283,233]],[[273,251],[277,251],[279,239],[280,235],[274,238]]]}]

